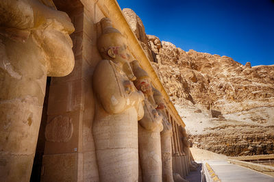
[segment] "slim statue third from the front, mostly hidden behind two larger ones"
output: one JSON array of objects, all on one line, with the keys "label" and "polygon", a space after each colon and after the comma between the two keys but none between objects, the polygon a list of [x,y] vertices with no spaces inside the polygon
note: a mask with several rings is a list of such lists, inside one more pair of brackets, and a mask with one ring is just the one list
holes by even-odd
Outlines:
[{"label": "slim statue third from the front, mostly hidden behind two larger ones", "polygon": [[171,146],[172,126],[169,123],[168,116],[166,116],[164,97],[162,96],[161,92],[155,88],[153,88],[153,98],[155,103],[158,105],[156,110],[163,118],[163,130],[160,133],[162,151],[162,181],[171,182],[173,181]]}]

